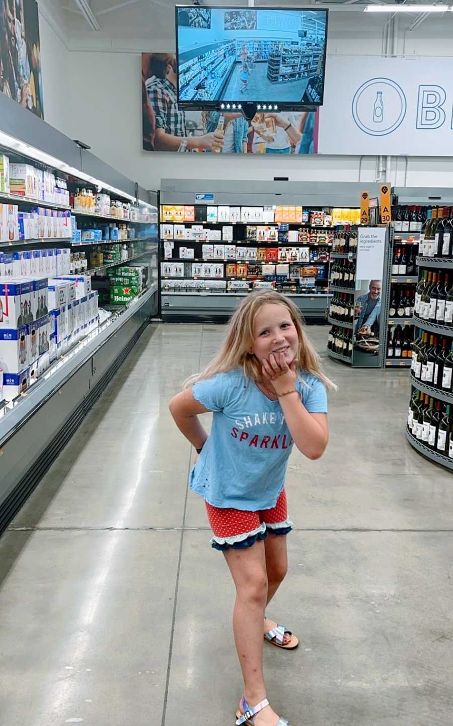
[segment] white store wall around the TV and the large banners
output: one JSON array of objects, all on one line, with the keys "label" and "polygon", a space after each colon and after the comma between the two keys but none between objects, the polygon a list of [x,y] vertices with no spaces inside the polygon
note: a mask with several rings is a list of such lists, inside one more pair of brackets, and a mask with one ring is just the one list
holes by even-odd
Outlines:
[{"label": "white store wall around the TV and the large banners", "polygon": [[[384,21],[373,18],[360,30],[356,15],[331,13],[331,54],[381,54]],[[451,21],[444,21],[444,30],[421,25],[414,31],[420,34],[417,41],[413,39],[413,33],[407,33],[410,36],[407,46],[412,44],[420,54],[453,54],[453,28],[446,27],[446,23],[453,23],[451,15]],[[430,36],[433,37],[430,39]],[[402,43],[403,33],[400,47]],[[253,182],[289,176],[290,180],[297,181],[375,180],[374,156],[361,161],[357,156],[219,157],[144,152],[140,53],[168,50],[168,41],[111,41],[102,38],[102,34],[91,33],[76,41],[73,37],[69,46],[70,52],[55,33],[52,34],[49,25],[41,22],[46,121],[71,138],[82,139],[94,154],[146,189],[158,189],[161,178],[250,179]],[[330,59],[330,62],[334,60]],[[54,86],[64,90],[54,93],[51,91]],[[406,182],[407,186],[413,187],[453,187],[453,158],[399,158],[397,162],[393,158],[391,181],[399,186]]]}]

